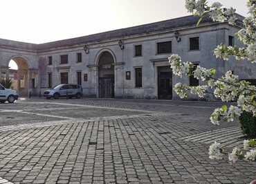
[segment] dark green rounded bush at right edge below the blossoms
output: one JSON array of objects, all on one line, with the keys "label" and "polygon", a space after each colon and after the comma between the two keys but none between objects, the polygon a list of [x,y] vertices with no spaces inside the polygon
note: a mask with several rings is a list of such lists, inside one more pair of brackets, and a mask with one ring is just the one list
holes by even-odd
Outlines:
[{"label": "dark green rounded bush at right edge below the blossoms", "polygon": [[244,111],[239,118],[241,129],[248,138],[256,138],[256,118],[253,113]]}]

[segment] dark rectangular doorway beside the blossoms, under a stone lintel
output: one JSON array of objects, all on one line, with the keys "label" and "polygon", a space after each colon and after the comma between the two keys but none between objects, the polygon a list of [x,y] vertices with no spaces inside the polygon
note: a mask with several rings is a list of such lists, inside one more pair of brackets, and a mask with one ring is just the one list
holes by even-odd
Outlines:
[{"label": "dark rectangular doorway beside the blossoms, under a stone lintel", "polygon": [[158,99],[172,100],[172,71],[158,67]]}]

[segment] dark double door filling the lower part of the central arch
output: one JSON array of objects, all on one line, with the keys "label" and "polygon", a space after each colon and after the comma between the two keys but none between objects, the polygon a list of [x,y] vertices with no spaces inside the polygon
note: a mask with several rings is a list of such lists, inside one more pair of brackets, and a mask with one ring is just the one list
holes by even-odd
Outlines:
[{"label": "dark double door filling the lower part of the central arch", "polygon": [[115,93],[114,77],[99,77],[99,97],[114,98]]}]

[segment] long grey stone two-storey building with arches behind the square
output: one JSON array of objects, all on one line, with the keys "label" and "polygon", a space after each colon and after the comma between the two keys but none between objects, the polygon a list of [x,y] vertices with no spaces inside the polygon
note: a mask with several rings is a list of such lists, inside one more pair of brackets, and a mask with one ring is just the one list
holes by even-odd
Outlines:
[{"label": "long grey stone two-storey building with arches behind the square", "polygon": [[218,76],[232,70],[254,82],[252,64],[224,62],[213,55],[218,44],[241,45],[234,37],[243,19],[237,16],[237,26],[215,23],[209,17],[196,26],[199,18],[187,16],[46,44],[0,39],[0,74],[8,75],[8,63],[15,60],[21,95],[40,95],[60,83],[78,83],[91,97],[179,99],[172,91],[176,82],[200,82],[172,75],[167,57],[176,53],[195,66],[216,68]]}]

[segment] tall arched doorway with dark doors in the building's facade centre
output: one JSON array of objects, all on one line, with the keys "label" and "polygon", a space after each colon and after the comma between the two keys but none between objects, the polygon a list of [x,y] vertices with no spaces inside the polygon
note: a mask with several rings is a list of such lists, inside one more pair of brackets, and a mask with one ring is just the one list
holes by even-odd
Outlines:
[{"label": "tall arched doorway with dark doors in the building's facade centre", "polygon": [[98,62],[98,84],[100,98],[114,98],[115,72],[114,59],[111,53],[104,51],[100,54]]}]

